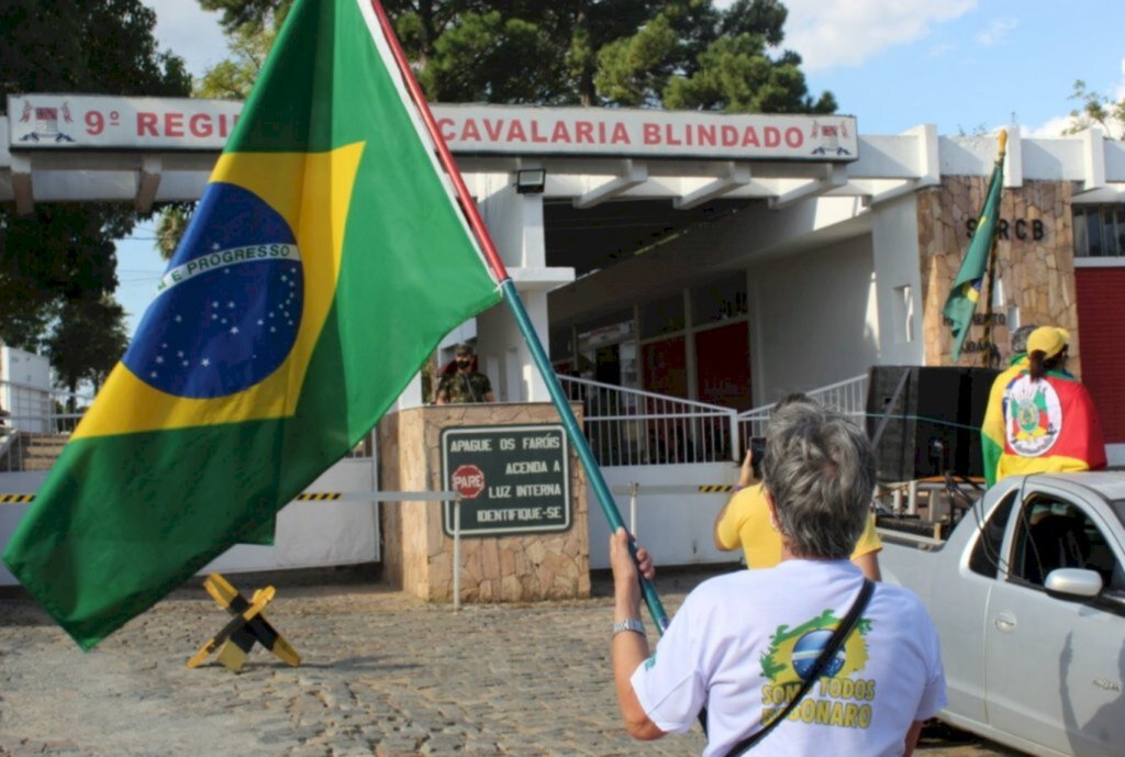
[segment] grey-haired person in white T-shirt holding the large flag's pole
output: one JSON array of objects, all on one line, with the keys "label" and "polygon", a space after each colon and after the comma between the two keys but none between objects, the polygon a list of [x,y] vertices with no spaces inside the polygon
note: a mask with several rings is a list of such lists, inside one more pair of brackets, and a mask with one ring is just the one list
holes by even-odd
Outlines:
[{"label": "grey-haired person in white T-shirt holding the large flag's pole", "polygon": [[837,413],[786,405],[770,422],[763,474],[781,565],[698,586],[651,656],[629,537],[611,538],[611,656],[628,732],[682,733],[705,706],[703,757],[911,754],[945,706],[945,678],[920,600],[848,560],[875,481],[871,442]]}]

